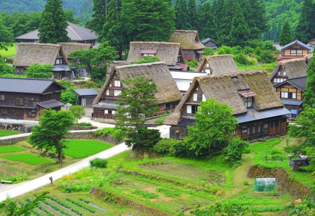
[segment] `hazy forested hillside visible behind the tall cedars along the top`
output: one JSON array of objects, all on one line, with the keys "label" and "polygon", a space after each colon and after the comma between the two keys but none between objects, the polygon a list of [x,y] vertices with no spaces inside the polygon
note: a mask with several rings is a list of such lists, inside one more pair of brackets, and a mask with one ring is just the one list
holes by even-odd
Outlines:
[{"label": "hazy forested hillside visible behind the tall cedars along the top", "polygon": [[[175,0],[173,1],[175,3]],[[205,1],[196,0],[197,7],[200,7]],[[213,0],[209,0],[209,2],[212,4]],[[263,40],[277,42],[281,32],[281,25],[287,18],[292,32],[294,32],[302,7],[301,2],[302,0],[264,0],[269,30],[263,34]],[[1,0],[0,12],[40,12],[44,9],[45,3],[46,0]],[[93,0],[63,0],[63,7],[72,9],[75,12],[74,16],[80,18],[80,24],[84,25],[92,16]]]}]

